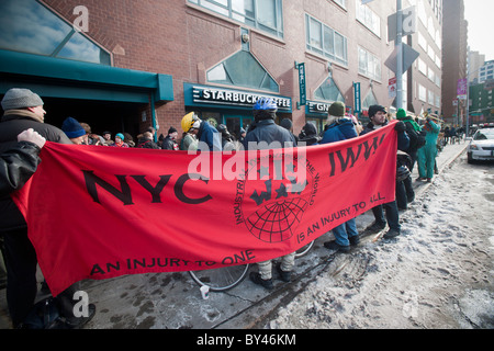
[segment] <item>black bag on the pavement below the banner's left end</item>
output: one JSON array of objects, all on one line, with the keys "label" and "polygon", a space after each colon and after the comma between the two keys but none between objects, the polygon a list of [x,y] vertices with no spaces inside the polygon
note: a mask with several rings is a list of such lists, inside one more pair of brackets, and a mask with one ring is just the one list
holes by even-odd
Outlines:
[{"label": "black bag on the pavement below the banner's left end", "polygon": [[47,297],[34,304],[24,319],[22,328],[58,329],[63,324],[56,299]]}]

